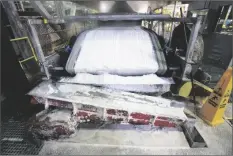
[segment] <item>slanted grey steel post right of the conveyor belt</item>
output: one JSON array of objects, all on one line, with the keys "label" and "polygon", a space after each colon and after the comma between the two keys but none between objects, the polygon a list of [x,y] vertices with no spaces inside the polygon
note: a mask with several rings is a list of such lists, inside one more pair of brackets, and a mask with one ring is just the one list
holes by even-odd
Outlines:
[{"label": "slanted grey steel post right of the conveyor belt", "polygon": [[193,56],[193,51],[194,51],[194,45],[197,40],[199,30],[201,28],[201,21],[202,21],[202,17],[199,16],[197,18],[197,22],[195,23],[191,31],[191,35],[190,35],[189,43],[187,47],[187,52],[186,52],[186,57],[185,57],[185,67],[184,67],[183,74],[182,74],[182,80],[188,80],[187,76],[192,71],[191,63],[195,63],[192,61],[192,56]]}]

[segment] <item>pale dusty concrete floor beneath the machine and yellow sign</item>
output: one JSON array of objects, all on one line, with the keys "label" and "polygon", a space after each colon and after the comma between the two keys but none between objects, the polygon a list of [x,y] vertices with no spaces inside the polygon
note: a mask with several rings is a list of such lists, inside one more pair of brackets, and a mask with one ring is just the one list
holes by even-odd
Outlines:
[{"label": "pale dusty concrete floor beneath the machine and yellow sign", "polygon": [[[227,107],[232,115],[232,106]],[[232,155],[232,127],[210,127],[198,119],[196,128],[208,148],[190,148],[180,131],[80,130],[73,138],[45,142],[41,155]],[[105,135],[107,134],[107,135]],[[104,136],[104,137],[103,137]]]}]

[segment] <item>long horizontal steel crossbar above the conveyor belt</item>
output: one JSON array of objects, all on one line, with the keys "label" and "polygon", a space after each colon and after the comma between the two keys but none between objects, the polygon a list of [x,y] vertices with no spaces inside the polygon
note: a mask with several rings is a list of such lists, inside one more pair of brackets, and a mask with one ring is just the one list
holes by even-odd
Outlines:
[{"label": "long horizontal steel crossbar above the conveyor belt", "polygon": [[48,19],[48,23],[62,24],[62,23],[87,21],[87,20],[97,20],[97,21],[98,20],[99,21],[155,20],[155,21],[195,23],[195,18],[172,18],[170,15],[162,15],[162,14],[125,14],[125,15],[92,14],[85,16],[71,16],[71,17],[66,17],[64,19]]}]

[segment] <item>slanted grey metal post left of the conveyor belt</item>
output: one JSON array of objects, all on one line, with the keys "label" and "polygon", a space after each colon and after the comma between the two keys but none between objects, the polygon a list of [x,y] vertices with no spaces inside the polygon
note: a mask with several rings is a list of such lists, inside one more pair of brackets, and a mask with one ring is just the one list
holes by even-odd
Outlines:
[{"label": "slanted grey metal post left of the conveyor belt", "polygon": [[32,43],[33,43],[35,51],[37,53],[39,63],[42,66],[42,68],[44,69],[44,72],[46,74],[47,79],[50,79],[49,70],[48,70],[46,62],[45,62],[45,56],[44,56],[42,47],[40,45],[40,40],[38,38],[38,34],[36,32],[36,29],[31,24],[29,24],[29,28],[31,30]]}]

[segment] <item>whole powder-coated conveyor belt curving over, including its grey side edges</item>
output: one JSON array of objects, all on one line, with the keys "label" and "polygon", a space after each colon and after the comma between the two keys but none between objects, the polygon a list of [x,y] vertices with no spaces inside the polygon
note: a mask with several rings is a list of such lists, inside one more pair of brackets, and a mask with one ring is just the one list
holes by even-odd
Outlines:
[{"label": "whole powder-coated conveyor belt curving over, including its grey side edges", "polygon": [[[105,36],[103,37],[103,35],[106,34],[102,34],[102,36],[100,35],[101,34],[100,32],[105,32],[105,29],[107,30],[106,31],[106,33],[108,34],[107,36],[110,36],[109,38],[106,38]],[[99,33],[99,34],[95,35],[95,33]],[[131,34],[131,36],[127,34]],[[141,37],[139,37],[139,34]],[[100,41],[101,44],[103,44],[102,42],[103,40],[106,40],[106,49],[103,50],[109,53],[104,52],[103,55],[106,54],[107,56],[102,56],[101,54],[98,53],[99,55],[101,55],[101,57],[100,56],[97,57],[98,54],[96,53],[100,49],[98,49],[98,44],[94,44],[95,42],[92,42],[92,38],[90,40],[90,35],[92,36],[93,41]],[[134,44],[135,46],[129,45],[127,49],[127,44],[124,45],[123,43],[125,42],[122,41],[125,39],[124,35],[126,35],[129,38],[129,39],[127,38],[126,41],[129,42],[130,44],[132,44],[131,41],[135,42]],[[109,44],[115,45],[115,47],[114,46],[107,47],[108,46],[107,41],[109,42]],[[142,44],[142,42],[145,42],[145,44],[144,43]],[[87,46],[87,43],[88,45],[89,44],[90,45]],[[139,43],[142,44],[143,46],[139,46]],[[92,49],[89,48],[91,47],[91,45],[97,47],[97,49],[93,51],[93,48]],[[139,46],[139,48],[137,48],[137,46]],[[153,46],[153,48],[150,46]],[[103,48],[103,46],[99,48]],[[122,55],[119,54],[119,51],[121,51],[121,49],[118,48],[123,48],[122,51],[124,53],[122,52],[123,53]],[[153,49],[154,53],[151,53],[151,48]],[[103,50],[101,50],[100,53]],[[135,52],[136,55],[135,58],[134,56],[131,55],[132,51]],[[93,56],[94,58],[91,57],[86,58],[87,57],[86,55]],[[119,62],[119,56],[122,57],[121,62]],[[111,57],[109,58],[110,60],[114,58],[113,59],[114,63],[112,63],[113,61],[106,62],[108,57]],[[139,57],[141,58],[141,60],[138,59]],[[89,62],[87,60],[83,65],[82,64],[83,60],[81,59],[84,58],[88,59]],[[101,58],[105,62],[101,62]],[[98,67],[96,67],[97,66],[95,65],[96,61],[94,61],[93,59],[97,59],[96,60],[97,62],[100,61],[100,63],[98,63]],[[139,61],[139,62],[135,62],[135,61]],[[125,65],[126,62],[127,65]],[[101,63],[103,63],[102,65],[103,69],[101,65],[99,66],[99,64]],[[98,71],[96,71],[93,68],[98,69]],[[117,74],[117,75],[144,75],[144,74],[153,74],[153,73],[163,75],[167,70],[167,64],[155,33],[145,31],[145,29],[140,27],[109,27],[109,28],[96,28],[82,32],[77,37],[77,40],[73,46],[70,57],[66,64],[66,70],[70,74],[76,74],[77,72],[85,71],[87,73],[92,73],[92,74],[100,74],[99,72],[104,72],[104,73]]]}]

